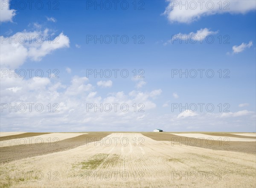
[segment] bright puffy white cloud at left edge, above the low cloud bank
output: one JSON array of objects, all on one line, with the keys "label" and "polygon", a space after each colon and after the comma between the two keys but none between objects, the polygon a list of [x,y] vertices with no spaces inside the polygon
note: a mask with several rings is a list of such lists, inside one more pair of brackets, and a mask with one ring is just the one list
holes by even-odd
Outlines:
[{"label": "bright puffy white cloud at left edge, above the low cloud bank", "polygon": [[[1,67],[5,68],[17,68],[21,66],[27,59],[32,61],[41,61],[41,59],[47,55],[51,54],[56,49],[69,47],[70,40],[62,32],[57,38],[53,40],[41,40],[39,35],[43,38],[49,36],[48,29],[43,32],[17,32],[8,38],[0,36],[2,43],[0,44],[0,58]],[[32,35],[29,38],[29,35]],[[24,37],[22,37],[24,36]],[[17,40],[10,40],[10,38],[17,38]]]}]

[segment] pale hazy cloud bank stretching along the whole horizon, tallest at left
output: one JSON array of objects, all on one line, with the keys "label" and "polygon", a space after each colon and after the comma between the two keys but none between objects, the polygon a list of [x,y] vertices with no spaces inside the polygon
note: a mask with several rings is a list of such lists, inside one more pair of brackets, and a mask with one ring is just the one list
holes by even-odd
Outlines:
[{"label": "pale hazy cloud bank stretching along the whole horizon, tallest at left", "polygon": [[[41,103],[44,111],[32,112],[26,110],[24,113],[9,113],[9,109],[1,112],[1,130],[23,130],[23,131],[152,131],[159,127],[166,131],[229,131],[250,132],[255,130],[255,112],[241,111],[232,113],[230,118],[220,118],[222,113],[172,113],[166,111],[157,113],[157,104],[153,96],[160,90],[141,92],[133,90],[130,93],[116,92],[100,95],[96,84],[90,84],[86,77],[74,76],[68,84],[61,83],[58,79],[50,78],[9,78],[3,75],[0,82],[1,103]],[[59,112],[49,113],[48,104],[59,104]],[[86,104],[112,104],[126,103],[129,105],[127,113],[117,112],[112,106],[111,112],[94,112],[94,108],[86,111]],[[136,113],[132,105],[137,104]],[[144,104],[138,106],[138,104]],[[138,113],[143,107],[145,112]],[[55,107],[51,108],[51,111]],[[233,115],[234,114],[234,115]],[[248,114],[248,116],[242,116]],[[253,117],[254,114],[254,117]],[[189,118],[190,117],[190,118]],[[17,123],[18,122],[18,123]],[[37,126],[35,126],[35,124]],[[76,125],[76,126],[73,126]],[[97,126],[96,126],[97,125]],[[254,126],[253,126],[254,125]],[[198,129],[197,129],[198,128]]]}]

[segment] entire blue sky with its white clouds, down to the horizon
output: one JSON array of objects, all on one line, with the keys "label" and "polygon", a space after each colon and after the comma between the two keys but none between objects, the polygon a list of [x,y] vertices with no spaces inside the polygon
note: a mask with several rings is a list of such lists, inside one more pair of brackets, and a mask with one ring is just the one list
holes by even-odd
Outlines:
[{"label": "entire blue sky with its white clouds, down to the horizon", "polygon": [[[120,1],[116,9],[107,1],[110,10],[107,4],[94,7],[94,1],[52,1],[50,9],[48,1],[35,1],[43,9],[24,2],[26,9],[19,1],[1,0],[1,131],[256,131],[255,1],[221,1],[221,9],[219,1],[211,1],[212,9],[194,1],[194,10],[191,1],[183,1],[187,9],[180,1]],[[9,40],[29,34],[44,36],[43,43]],[[106,41],[109,35],[112,42],[95,43],[89,35]],[[202,43],[191,36],[201,36]],[[191,40],[180,43],[181,37]],[[15,78],[3,72],[10,69],[42,69],[44,76]],[[49,78],[49,69],[58,69],[59,78]],[[87,78],[88,69],[127,69],[129,76]],[[143,69],[145,78],[133,78],[134,69],[137,75]],[[174,69],[195,69],[198,75],[172,76]],[[198,69],[204,69],[202,78]],[[206,70],[214,76],[208,78]],[[226,73],[230,78],[223,78]],[[40,103],[44,110],[10,112],[10,105],[22,103]],[[87,112],[88,104],[107,103],[128,104],[130,110]],[[133,112],[134,103],[143,104],[144,112]],[[202,112],[186,109],[199,103],[205,104]],[[47,104],[58,104],[59,112],[48,112]],[[185,108],[172,109],[175,104]]]}]

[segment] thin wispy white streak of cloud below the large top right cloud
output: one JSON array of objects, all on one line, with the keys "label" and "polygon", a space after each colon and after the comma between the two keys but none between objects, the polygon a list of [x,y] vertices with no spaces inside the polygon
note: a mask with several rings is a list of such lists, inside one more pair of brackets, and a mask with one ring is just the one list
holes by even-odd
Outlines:
[{"label": "thin wispy white streak of cloud below the large top right cloud", "polygon": [[189,41],[196,42],[200,41],[200,43],[203,42],[204,38],[206,38],[209,35],[215,35],[218,31],[210,31],[208,28],[197,30],[196,32],[190,32],[189,34],[182,34],[178,33],[176,35],[172,35],[172,39],[168,40],[164,45],[167,45],[168,43],[174,43],[175,40],[181,40],[181,39],[187,39]]}]

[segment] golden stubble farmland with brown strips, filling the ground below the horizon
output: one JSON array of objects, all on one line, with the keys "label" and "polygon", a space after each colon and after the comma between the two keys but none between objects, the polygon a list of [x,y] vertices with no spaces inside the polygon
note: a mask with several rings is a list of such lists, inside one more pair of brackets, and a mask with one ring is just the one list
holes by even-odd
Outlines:
[{"label": "golden stubble farmland with brown strips, filling the ground below the horizon", "polygon": [[[229,138],[230,134],[222,136]],[[41,149],[39,144],[6,146],[2,136],[6,147],[0,148],[0,158],[5,157],[0,163],[0,187],[255,188],[255,136],[231,137],[240,139],[220,142],[206,137],[195,145],[196,139],[170,133],[87,133],[60,140],[60,149],[49,151],[52,143]],[[26,153],[31,147],[33,156],[21,154],[19,158],[22,147]],[[17,157],[8,158],[8,152]]]}]

